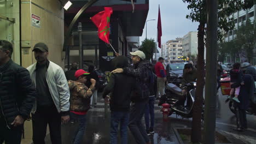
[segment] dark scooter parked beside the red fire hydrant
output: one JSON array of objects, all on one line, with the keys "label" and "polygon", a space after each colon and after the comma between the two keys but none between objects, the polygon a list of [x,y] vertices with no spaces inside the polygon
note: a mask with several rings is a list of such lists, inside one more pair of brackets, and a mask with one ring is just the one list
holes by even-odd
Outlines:
[{"label": "dark scooter parked beside the red fire hydrant", "polygon": [[[162,104],[167,103],[170,105],[169,116],[176,114],[176,117],[181,116],[182,118],[191,118],[193,116],[193,106],[195,103],[195,86],[196,82],[190,82],[185,85],[184,88],[188,89],[187,99],[185,104],[187,106],[182,106],[178,103],[179,97],[182,97],[182,89],[173,83],[168,83],[166,85],[166,94],[162,95],[159,100],[159,107],[162,109]],[[202,110],[202,121],[203,121],[203,110]]]}]

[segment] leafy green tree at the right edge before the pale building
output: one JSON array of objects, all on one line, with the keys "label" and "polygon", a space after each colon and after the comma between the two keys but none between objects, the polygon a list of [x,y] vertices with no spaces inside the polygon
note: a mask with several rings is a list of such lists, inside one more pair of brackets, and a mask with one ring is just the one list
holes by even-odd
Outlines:
[{"label": "leafy green tree at the right edge before the pale building", "polygon": [[[235,45],[238,49],[246,51],[248,62],[252,62],[253,58],[253,49],[255,45],[256,38],[256,22],[251,22],[250,19],[242,23],[236,31]],[[237,51],[237,49],[232,50]]]}]

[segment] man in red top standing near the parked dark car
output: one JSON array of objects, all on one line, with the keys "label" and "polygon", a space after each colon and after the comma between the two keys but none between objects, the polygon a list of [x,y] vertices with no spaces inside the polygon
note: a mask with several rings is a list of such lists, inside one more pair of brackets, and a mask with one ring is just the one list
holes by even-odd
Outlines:
[{"label": "man in red top standing near the parked dark car", "polygon": [[165,93],[166,71],[162,63],[164,63],[164,58],[159,57],[158,63],[155,64],[155,74],[158,76],[158,92],[156,93],[156,99],[159,99]]}]

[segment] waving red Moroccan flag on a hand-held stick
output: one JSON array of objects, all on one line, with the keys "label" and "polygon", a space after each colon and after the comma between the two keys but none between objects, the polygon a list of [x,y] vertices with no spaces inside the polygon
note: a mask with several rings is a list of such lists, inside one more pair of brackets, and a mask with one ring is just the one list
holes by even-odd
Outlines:
[{"label": "waving red Moroccan flag on a hand-held stick", "polygon": [[98,38],[109,44],[109,23],[113,9],[110,7],[104,7],[104,9],[104,11],[91,17],[91,20],[98,27]]}]

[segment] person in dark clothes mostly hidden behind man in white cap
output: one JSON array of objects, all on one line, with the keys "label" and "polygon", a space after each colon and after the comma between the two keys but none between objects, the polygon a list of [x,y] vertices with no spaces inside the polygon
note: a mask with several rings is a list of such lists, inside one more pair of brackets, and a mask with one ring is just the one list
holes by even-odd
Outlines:
[{"label": "person in dark clothes mostly hidden behind man in white cap", "polygon": [[[148,105],[146,106],[146,110],[144,113],[144,119],[146,124],[146,131],[148,135],[154,134],[154,120],[155,120],[155,113],[154,113],[154,107],[155,107],[155,95],[158,91],[158,84],[157,84],[157,76],[152,72],[149,75],[150,82],[149,82],[149,101]],[[149,118],[150,117],[150,118]]]}]

